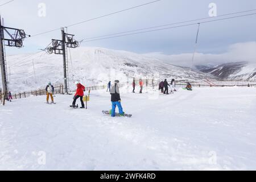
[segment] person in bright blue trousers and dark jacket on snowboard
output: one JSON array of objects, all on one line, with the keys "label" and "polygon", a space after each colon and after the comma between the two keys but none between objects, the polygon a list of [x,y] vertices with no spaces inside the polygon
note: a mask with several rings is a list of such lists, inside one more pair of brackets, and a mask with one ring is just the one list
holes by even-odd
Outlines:
[{"label": "person in bright blue trousers and dark jacket on snowboard", "polygon": [[121,98],[119,94],[119,81],[115,80],[115,85],[112,86],[110,94],[111,94],[111,102],[112,102],[112,110],[111,110],[111,116],[115,117],[115,107],[118,107],[119,114],[124,115],[123,108],[121,105]]}]

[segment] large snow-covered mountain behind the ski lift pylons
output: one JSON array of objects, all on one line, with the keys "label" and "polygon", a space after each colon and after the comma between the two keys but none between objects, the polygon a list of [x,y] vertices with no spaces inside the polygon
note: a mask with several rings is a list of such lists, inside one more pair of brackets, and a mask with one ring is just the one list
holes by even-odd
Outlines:
[{"label": "large snow-covered mountain behind the ski lift pylons", "polygon": [[[176,78],[176,80],[200,80],[202,78],[216,80],[216,77],[208,73],[178,67],[133,52],[80,47],[71,49],[68,53],[71,89],[76,80],[90,86],[106,84],[114,79],[126,82],[127,77],[138,79],[146,76],[152,77],[154,74],[159,74],[160,78]],[[11,90],[22,92],[44,88],[48,81],[54,84],[63,83],[62,59],[62,55],[47,55],[45,52],[7,56],[8,67],[11,67]]]}]

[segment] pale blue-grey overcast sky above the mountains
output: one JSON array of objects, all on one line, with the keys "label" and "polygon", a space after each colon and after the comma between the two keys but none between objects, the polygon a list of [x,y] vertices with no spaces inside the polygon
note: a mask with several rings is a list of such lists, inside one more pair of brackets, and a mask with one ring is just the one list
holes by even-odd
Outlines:
[{"label": "pale blue-grey overcast sky above the mountains", "polygon": [[[0,0],[0,5],[9,0]],[[0,6],[5,26],[22,28],[27,34],[38,34],[95,18],[114,11],[127,9],[153,0],[15,0]],[[46,17],[38,16],[39,3],[46,4]],[[208,17],[209,3],[216,3],[217,15],[256,9],[255,0],[162,0],[137,9],[114,14],[68,28],[77,40],[158,26],[184,20]],[[254,11],[256,13],[256,11]],[[201,24],[197,51],[200,53],[224,53],[230,45],[256,40],[256,15]],[[193,52],[197,26],[148,32],[114,39],[82,43],[82,46],[122,49],[137,53],[162,52],[167,55]],[[22,49],[7,48],[7,54],[37,52],[51,42],[60,39],[60,30],[27,38]]]}]

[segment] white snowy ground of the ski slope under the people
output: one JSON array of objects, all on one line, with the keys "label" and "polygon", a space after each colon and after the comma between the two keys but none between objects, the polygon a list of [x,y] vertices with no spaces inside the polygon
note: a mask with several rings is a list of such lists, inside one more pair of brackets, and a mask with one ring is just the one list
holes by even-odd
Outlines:
[{"label": "white snowy ground of the ski slope under the people", "polygon": [[121,98],[132,118],[103,115],[110,96],[96,91],[88,110],[64,95],[56,105],[31,97],[1,106],[0,169],[256,169],[256,88]]}]

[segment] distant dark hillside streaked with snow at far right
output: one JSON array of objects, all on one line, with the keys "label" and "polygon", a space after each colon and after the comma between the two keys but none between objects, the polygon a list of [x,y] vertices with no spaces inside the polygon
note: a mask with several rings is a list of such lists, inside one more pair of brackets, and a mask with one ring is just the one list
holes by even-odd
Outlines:
[{"label": "distant dark hillside streaked with snow at far right", "polygon": [[246,62],[227,63],[213,68],[200,69],[222,80],[256,80],[256,65]]}]

